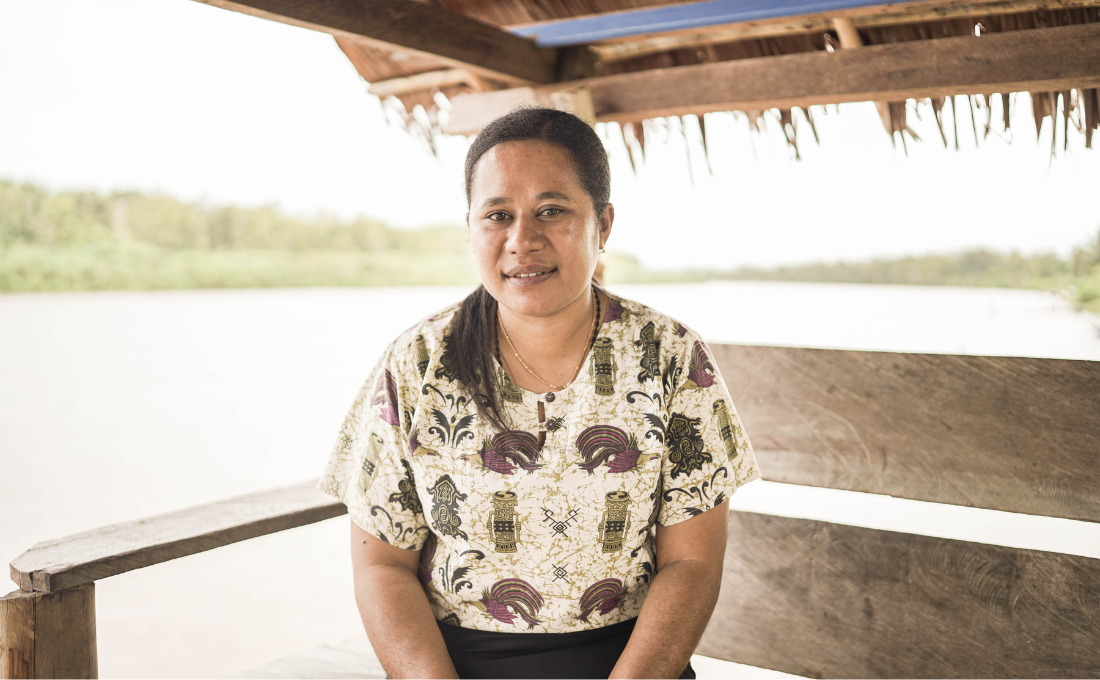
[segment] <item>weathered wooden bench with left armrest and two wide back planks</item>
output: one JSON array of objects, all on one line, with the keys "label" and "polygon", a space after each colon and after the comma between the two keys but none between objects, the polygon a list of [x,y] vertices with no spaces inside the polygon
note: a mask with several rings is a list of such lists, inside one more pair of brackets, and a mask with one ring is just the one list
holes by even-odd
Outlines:
[{"label": "weathered wooden bench with left armrest and two wide back planks", "polygon": [[[766,480],[1100,522],[1100,362],[713,349]],[[0,600],[0,677],[97,677],[95,581],[345,513],[314,485],[32,547]],[[1100,560],[743,512],[729,531],[700,654],[811,678],[1100,676]],[[349,645],[330,657],[366,668]]]}]

